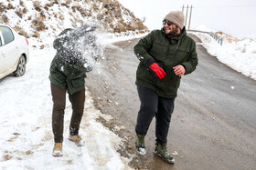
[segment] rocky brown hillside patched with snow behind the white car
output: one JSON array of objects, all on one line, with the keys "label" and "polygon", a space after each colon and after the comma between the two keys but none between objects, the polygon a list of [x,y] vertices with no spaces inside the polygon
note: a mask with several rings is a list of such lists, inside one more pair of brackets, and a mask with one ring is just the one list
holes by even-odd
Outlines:
[{"label": "rocky brown hillside patched with snow behind the white car", "polygon": [[142,20],[117,0],[1,0],[0,23],[26,37],[40,38],[84,24],[111,33],[147,30]]}]

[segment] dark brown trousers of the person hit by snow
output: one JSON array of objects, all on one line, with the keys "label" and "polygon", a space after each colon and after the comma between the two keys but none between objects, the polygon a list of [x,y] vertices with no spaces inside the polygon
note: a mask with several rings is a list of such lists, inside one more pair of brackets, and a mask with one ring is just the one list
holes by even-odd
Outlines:
[{"label": "dark brown trousers of the person hit by snow", "polygon": [[[52,131],[55,143],[63,142],[63,123],[64,123],[64,110],[66,106],[66,92],[67,88],[60,88],[58,85],[50,84],[51,95],[53,101],[52,109]],[[69,125],[70,135],[78,135],[80,129],[80,121],[83,115],[84,102],[85,102],[85,89],[70,95],[69,101],[72,105],[72,116]]]}]

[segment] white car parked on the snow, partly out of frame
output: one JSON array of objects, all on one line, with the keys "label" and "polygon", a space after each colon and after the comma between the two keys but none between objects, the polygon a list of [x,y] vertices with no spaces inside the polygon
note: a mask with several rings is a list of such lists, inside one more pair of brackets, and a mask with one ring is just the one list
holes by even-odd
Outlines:
[{"label": "white car parked on the snow, partly out of frame", "polygon": [[14,73],[22,76],[29,60],[28,41],[7,25],[0,24],[0,79]]}]

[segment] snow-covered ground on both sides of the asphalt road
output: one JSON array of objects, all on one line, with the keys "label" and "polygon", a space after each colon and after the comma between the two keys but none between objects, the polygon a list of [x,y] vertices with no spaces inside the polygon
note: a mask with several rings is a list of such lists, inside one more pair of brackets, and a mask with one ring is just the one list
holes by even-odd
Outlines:
[{"label": "snow-covered ground on both sides of the asphalt road", "polygon": [[[256,43],[242,40],[219,45],[207,34],[197,34],[208,52],[219,61],[256,79]],[[100,34],[101,47],[143,35]],[[30,61],[22,77],[9,75],[0,80],[0,168],[1,169],[129,169],[129,160],[116,151],[123,139],[105,128],[96,118],[101,112],[93,106],[90,92],[86,92],[80,135],[86,145],[78,147],[69,142],[71,105],[67,97],[64,126],[63,156],[53,157],[51,131],[52,100],[49,87],[49,65],[55,55],[51,44],[30,39]],[[36,45],[36,47],[32,46]],[[40,49],[41,45],[45,45]],[[104,57],[102,55],[101,57]],[[131,56],[133,57],[133,56]],[[135,57],[135,56],[134,56]],[[93,71],[101,73],[101,66]],[[90,73],[89,73],[90,74]],[[106,120],[110,115],[101,115]],[[117,128],[118,129],[118,128]]]}]

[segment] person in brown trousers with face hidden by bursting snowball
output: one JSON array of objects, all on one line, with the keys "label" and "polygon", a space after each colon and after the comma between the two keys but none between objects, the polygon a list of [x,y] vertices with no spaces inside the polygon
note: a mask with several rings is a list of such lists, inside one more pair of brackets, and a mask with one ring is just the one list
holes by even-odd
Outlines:
[{"label": "person in brown trousers with face hidden by bursting snowball", "polygon": [[63,155],[63,121],[67,91],[73,110],[69,140],[76,145],[84,145],[79,129],[85,102],[86,72],[91,71],[91,65],[98,58],[100,51],[94,30],[93,25],[83,25],[76,29],[67,28],[53,42],[53,47],[57,49],[49,74],[53,101],[52,130],[55,141],[53,156]]}]

